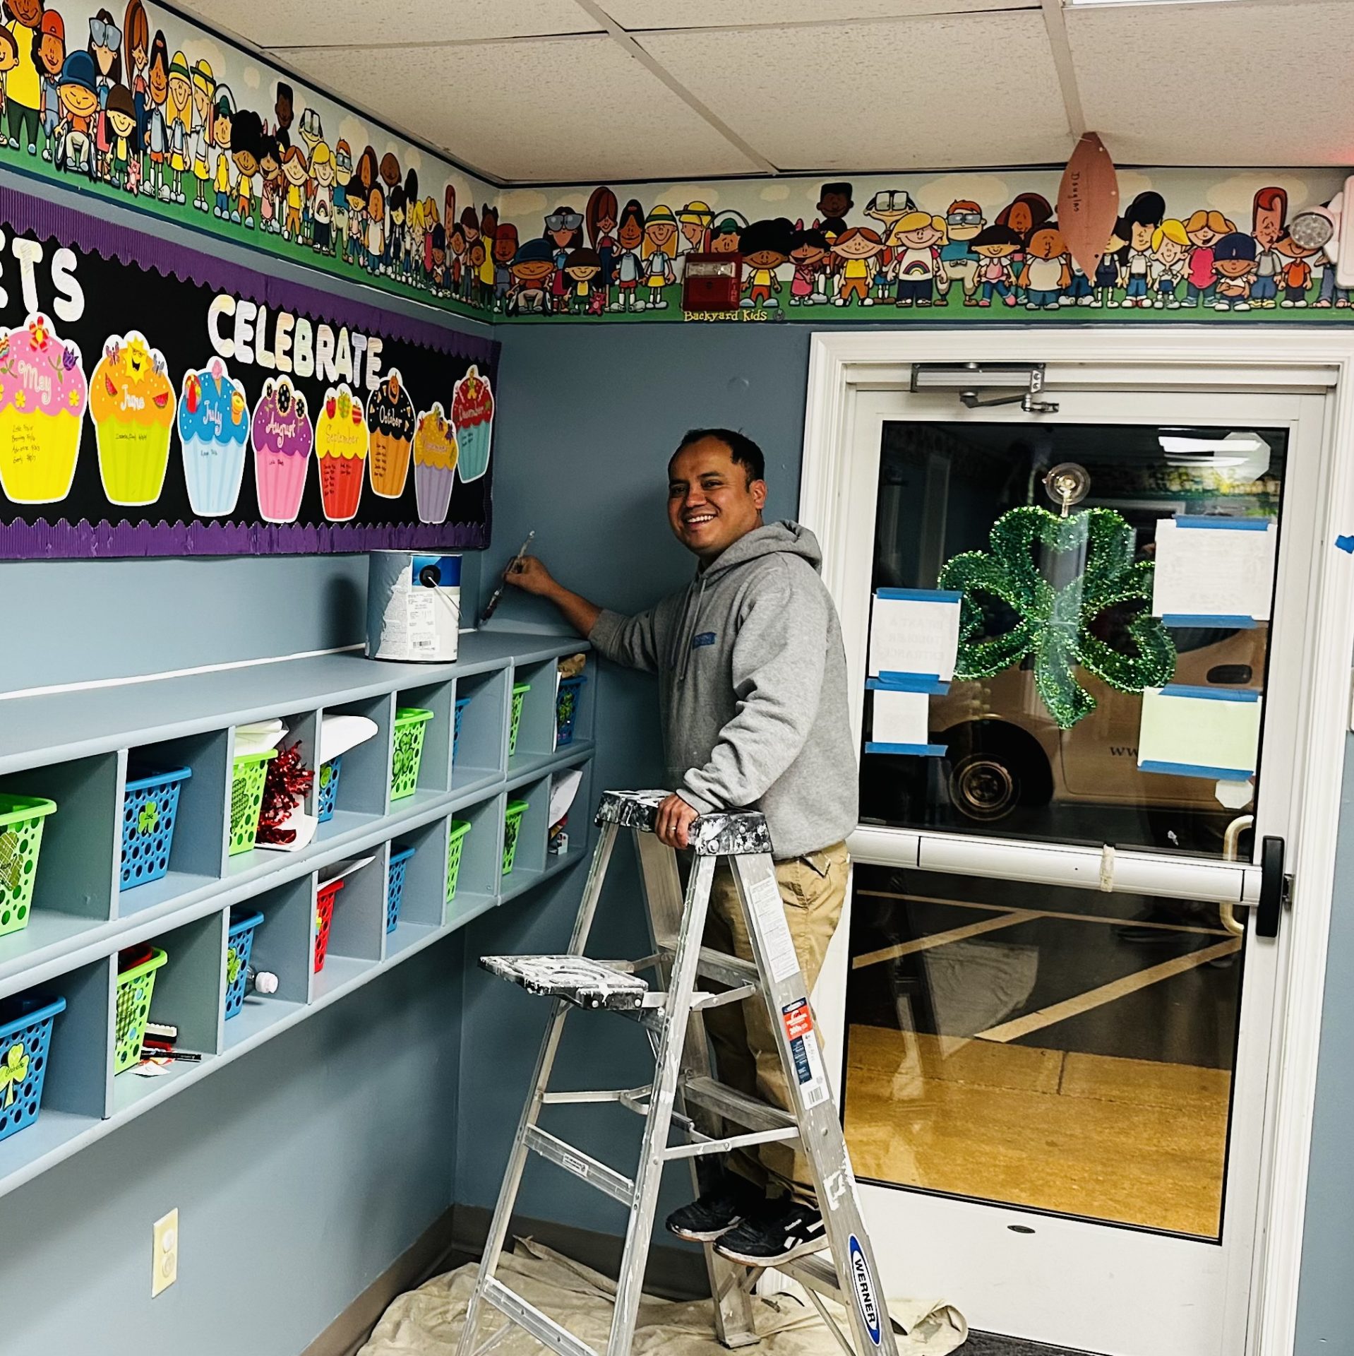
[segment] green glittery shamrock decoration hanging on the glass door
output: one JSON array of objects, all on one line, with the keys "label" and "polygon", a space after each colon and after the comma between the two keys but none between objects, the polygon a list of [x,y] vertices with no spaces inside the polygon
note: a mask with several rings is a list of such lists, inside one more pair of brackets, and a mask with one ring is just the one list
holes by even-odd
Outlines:
[{"label": "green glittery shamrock decoration hanging on the glass door", "polygon": [[[1095,709],[1095,698],[1076,679],[1078,666],[1120,692],[1170,682],[1175,645],[1147,609],[1128,625],[1137,654],[1121,654],[1090,633],[1107,607],[1152,597],[1152,564],[1133,560],[1133,529],[1117,513],[1088,509],[1060,518],[1026,504],[998,518],[988,540],[989,552],[966,551],[941,571],[939,586],[964,594],[956,678],[992,678],[1033,655],[1035,690],[1059,730],[1071,730]],[[1080,553],[1082,574],[1056,589],[1040,571],[1035,546]],[[987,635],[984,595],[1014,607],[1017,625]]]}]

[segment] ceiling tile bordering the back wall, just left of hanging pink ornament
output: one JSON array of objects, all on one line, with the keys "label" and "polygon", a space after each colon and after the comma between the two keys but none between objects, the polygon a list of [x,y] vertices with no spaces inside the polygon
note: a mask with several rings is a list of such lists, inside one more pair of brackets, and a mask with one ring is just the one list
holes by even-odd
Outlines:
[{"label": "ceiling tile bordering the back wall, just left of hanging pink ornament", "polygon": [[1029,164],[1072,148],[1038,11],[640,42],[783,170]]}]

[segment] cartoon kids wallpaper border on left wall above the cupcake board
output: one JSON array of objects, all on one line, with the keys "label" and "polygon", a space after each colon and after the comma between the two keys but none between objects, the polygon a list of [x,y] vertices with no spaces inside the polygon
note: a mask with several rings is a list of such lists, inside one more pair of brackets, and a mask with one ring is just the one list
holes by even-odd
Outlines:
[{"label": "cartoon kids wallpaper border on left wall above the cupcake board", "polygon": [[0,0],[0,171],[489,309],[496,190],[168,7],[112,3]]}]

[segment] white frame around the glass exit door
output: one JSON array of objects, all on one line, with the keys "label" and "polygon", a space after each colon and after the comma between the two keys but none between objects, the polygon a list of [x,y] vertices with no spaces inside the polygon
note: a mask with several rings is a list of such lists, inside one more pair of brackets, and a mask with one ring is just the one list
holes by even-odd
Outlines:
[{"label": "white frame around the glass exit door", "polygon": [[[823,544],[824,580],[834,578],[847,473],[842,449],[853,443],[855,396],[907,389],[914,362],[1048,362],[1080,365],[1088,380],[1103,365],[1107,382],[1124,369],[1176,366],[1181,386],[1247,391],[1327,391],[1323,511],[1315,549],[1316,645],[1309,720],[1302,750],[1302,830],[1285,862],[1298,884],[1288,914],[1288,976],[1281,983],[1277,1037],[1265,1115],[1262,1197],[1251,1273],[1247,1356],[1292,1356],[1307,1210],[1308,1163],[1316,1100],[1326,959],[1339,830],[1345,742],[1350,723],[1354,652],[1354,559],[1334,549],[1354,523],[1354,332],[1297,327],[895,330],[815,334],[809,348],[800,521]],[[1113,372],[1109,372],[1113,369]],[[1332,391],[1334,388],[1334,391]],[[1346,450],[1336,456],[1336,450]],[[842,938],[838,938],[842,944]]]}]

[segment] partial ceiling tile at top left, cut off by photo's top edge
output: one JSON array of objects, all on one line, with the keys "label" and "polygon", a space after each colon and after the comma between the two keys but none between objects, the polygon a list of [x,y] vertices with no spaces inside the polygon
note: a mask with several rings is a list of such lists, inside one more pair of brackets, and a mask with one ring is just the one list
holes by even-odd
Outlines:
[{"label": "partial ceiling tile at top left, cut off by photo's top edge", "polygon": [[333,0],[191,0],[188,8],[209,27],[236,33],[258,47],[370,47],[599,31],[575,0],[385,0],[378,18],[366,5]]}]

